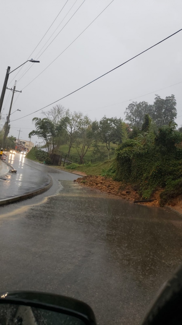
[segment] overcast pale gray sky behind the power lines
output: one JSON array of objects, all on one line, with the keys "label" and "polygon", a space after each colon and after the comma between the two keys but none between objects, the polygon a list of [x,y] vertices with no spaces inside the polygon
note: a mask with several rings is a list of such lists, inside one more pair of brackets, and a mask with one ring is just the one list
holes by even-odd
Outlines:
[{"label": "overcast pale gray sky behind the power lines", "polygon": [[[36,59],[83,1],[68,0],[67,3],[66,0],[1,1],[0,92],[7,66],[14,70],[28,59],[66,3],[31,55],[31,58]],[[40,63],[33,64],[21,79],[21,75],[31,63],[27,62],[16,77],[18,70],[10,74],[8,87],[13,87],[17,80],[16,89],[22,90],[19,96],[18,93],[15,94],[12,107],[12,112],[17,109],[21,112],[16,111],[12,114],[10,121],[67,95],[182,28],[181,0],[114,0],[50,67],[28,85],[110,2],[111,0],[85,0],[73,18],[40,56]],[[56,32],[51,36],[56,28]],[[49,38],[50,40],[41,50]],[[159,94],[162,98],[174,94],[177,101],[177,116],[182,115],[181,40],[182,32],[179,32],[59,103],[71,111],[80,110],[88,114],[92,120],[95,118],[99,120],[104,115],[124,119],[124,111],[131,103],[130,99],[154,92],[134,100],[138,102],[145,100],[152,104],[155,94]],[[180,84],[168,87],[176,83]],[[168,88],[156,91],[165,87]],[[11,99],[9,93],[11,91],[6,90],[2,114],[8,113]],[[2,116],[6,117],[6,115]],[[34,128],[31,121],[35,116],[40,117],[40,112],[11,122],[9,135],[17,137],[17,130],[21,128],[23,132],[20,136],[28,139],[28,133]],[[182,124],[182,116],[176,119],[176,123]],[[34,137],[33,141],[36,140]]]}]

